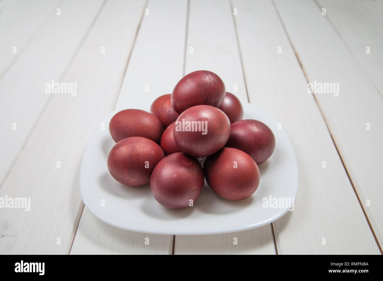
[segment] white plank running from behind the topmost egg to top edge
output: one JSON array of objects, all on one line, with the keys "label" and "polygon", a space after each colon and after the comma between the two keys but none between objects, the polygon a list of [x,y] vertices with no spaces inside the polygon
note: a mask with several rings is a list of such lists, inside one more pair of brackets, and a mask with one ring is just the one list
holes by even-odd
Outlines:
[{"label": "white plank running from behind the topmost egg to top edge", "polygon": [[229,0],[190,1],[185,74],[196,70],[213,71],[226,91],[247,101]]}]

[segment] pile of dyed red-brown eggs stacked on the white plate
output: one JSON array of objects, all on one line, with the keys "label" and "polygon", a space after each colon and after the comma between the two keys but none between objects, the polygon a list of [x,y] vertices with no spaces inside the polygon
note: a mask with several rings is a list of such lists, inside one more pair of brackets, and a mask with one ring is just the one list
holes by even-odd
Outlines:
[{"label": "pile of dyed red-brown eggs stacked on the white plate", "polygon": [[170,209],[193,206],[205,178],[220,197],[246,199],[259,185],[258,165],[273,153],[275,138],[264,123],[242,117],[241,102],[218,75],[192,72],[172,94],[158,97],[151,113],[126,109],[113,116],[109,172],[128,186],[150,182],[155,200]]}]

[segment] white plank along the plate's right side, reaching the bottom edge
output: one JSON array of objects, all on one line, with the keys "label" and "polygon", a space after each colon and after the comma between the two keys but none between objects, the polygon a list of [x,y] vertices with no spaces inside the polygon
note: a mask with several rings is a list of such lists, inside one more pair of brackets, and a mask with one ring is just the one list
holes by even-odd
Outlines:
[{"label": "white plank along the plate's right side, reaching the bottom edge", "polygon": [[[291,5],[291,9],[300,5]],[[238,10],[234,19],[250,102],[277,117],[298,159],[300,187],[295,210],[273,223],[278,254],[379,253],[321,111],[307,92],[303,71],[275,7],[268,1],[234,1],[233,7]],[[305,36],[306,44],[307,34],[318,36],[313,27],[304,28],[310,21],[295,27]],[[318,40],[327,42],[323,38]],[[282,54],[278,54],[278,47],[282,47]],[[325,169],[322,161],[326,161]],[[323,238],[326,244],[322,244]]]}]

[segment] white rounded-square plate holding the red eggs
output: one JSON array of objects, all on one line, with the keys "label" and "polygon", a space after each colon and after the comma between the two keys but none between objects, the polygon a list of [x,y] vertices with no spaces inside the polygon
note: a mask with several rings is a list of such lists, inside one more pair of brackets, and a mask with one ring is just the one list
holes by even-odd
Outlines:
[{"label": "white rounded-square plate holding the red eggs", "polygon": [[[128,108],[149,111],[151,102],[129,104]],[[106,159],[115,142],[109,133],[111,112],[97,126],[85,149],[80,167],[82,200],[105,223],[130,231],[170,235],[217,234],[261,227],[281,218],[288,206],[264,208],[264,198],[295,198],[298,193],[298,166],[293,146],[278,122],[264,110],[243,104],[244,119],[268,125],[275,135],[275,151],[259,166],[260,184],[255,193],[242,201],[218,197],[206,185],[193,207],[169,210],[151,194],[150,186],[127,187],[111,177]],[[104,200],[105,206],[101,206]],[[275,200],[275,199],[274,199]],[[270,203],[271,205],[271,203]]]}]

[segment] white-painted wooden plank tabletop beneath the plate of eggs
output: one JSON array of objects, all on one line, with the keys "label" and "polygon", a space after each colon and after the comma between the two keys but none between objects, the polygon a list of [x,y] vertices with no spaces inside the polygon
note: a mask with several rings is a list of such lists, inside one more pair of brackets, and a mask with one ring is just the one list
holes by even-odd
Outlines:
[{"label": "white-painted wooden plank tabletop beneath the plate of eggs", "polygon": [[[30,197],[31,210],[0,209],[0,253],[380,254],[382,27],[382,0],[2,0],[0,197]],[[286,130],[299,163],[295,210],[209,236],[95,218],[79,191],[92,130],[201,69]],[[77,83],[77,94],[46,93],[51,81]],[[339,92],[308,93],[314,81]]]}]

